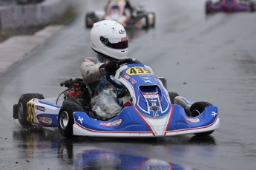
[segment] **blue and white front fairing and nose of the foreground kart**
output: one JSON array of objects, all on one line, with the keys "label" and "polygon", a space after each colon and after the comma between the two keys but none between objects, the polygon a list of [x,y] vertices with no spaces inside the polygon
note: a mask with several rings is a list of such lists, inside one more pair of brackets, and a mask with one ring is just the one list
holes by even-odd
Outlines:
[{"label": "blue and white front fairing and nose of the foreground kart", "polygon": [[73,135],[163,137],[210,132],[219,127],[216,106],[207,107],[196,118],[188,118],[182,106],[171,103],[167,90],[150,67],[125,65],[116,71],[115,79],[128,89],[134,106],[125,107],[108,121],[75,112]]}]

